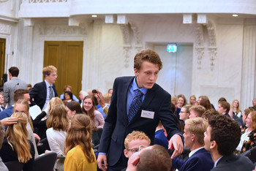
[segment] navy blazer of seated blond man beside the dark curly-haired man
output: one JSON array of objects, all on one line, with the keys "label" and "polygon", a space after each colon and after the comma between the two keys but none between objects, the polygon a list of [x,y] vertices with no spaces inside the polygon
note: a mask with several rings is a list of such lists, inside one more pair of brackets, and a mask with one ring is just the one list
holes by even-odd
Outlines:
[{"label": "navy blazer of seated blond man beside the dark curly-haired man", "polygon": [[[179,160],[177,157],[173,159],[173,163],[179,165]],[[211,170],[214,167],[214,161],[211,159],[211,154],[206,151],[205,148],[201,148],[199,151],[195,152],[187,161],[185,161],[179,171],[182,170],[197,170],[197,171],[207,171]]]}]

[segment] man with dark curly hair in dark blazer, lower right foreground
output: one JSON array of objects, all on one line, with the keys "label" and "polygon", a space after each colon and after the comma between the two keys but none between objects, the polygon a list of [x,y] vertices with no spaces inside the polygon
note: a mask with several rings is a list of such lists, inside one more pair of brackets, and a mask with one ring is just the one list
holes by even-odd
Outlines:
[{"label": "man with dark curly hair in dark blazer, lower right foreground", "polygon": [[214,161],[213,171],[254,170],[255,164],[246,156],[235,155],[241,129],[236,121],[225,115],[216,115],[208,121],[204,142]]}]

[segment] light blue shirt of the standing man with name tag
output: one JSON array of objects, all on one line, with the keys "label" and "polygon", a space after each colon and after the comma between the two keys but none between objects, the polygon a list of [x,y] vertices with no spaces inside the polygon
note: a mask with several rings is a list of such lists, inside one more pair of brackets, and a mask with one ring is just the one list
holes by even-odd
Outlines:
[{"label": "light blue shirt of the standing man with name tag", "polygon": [[127,92],[127,115],[129,113],[129,106],[132,103],[132,100],[135,96],[135,90],[139,89],[141,92],[143,92],[142,96],[142,102],[145,99],[146,93],[148,92],[148,88],[138,88],[138,85],[136,83],[136,77],[133,79],[132,84],[129,85],[128,92]]}]

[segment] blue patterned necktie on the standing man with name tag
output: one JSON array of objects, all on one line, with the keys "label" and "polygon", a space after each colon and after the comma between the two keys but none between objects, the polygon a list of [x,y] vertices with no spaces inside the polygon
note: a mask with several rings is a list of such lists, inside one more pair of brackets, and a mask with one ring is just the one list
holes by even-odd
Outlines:
[{"label": "blue patterned necktie on the standing man with name tag", "polygon": [[141,92],[139,89],[135,90],[135,97],[132,99],[132,103],[129,106],[129,112],[128,112],[128,121],[132,121],[132,118],[135,116],[135,114],[140,109],[140,106],[142,104],[141,97],[143,95],[143,92]]}]

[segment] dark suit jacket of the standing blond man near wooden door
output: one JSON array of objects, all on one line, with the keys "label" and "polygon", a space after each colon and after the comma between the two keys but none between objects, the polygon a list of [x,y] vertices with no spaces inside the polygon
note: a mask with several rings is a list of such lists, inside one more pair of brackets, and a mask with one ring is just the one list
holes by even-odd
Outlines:
[{"label": "dark suit jacket of the standing blond man near wooden door", "polygon": [[[53,84],[53,91],[55,96],[58,96],[54,84]],[[30,96],[31,105],[33,106],[34,104],[37,104],[42,110],[42,107],[44,107],[45,105],[46,96],[47,96],[45,81],[35,84],[34,87],[31,89],[31,91],[29,91],[29,96]]]}]

